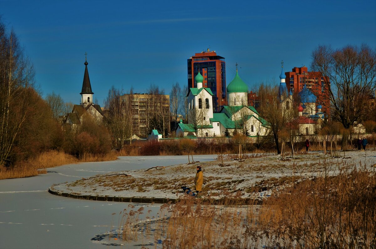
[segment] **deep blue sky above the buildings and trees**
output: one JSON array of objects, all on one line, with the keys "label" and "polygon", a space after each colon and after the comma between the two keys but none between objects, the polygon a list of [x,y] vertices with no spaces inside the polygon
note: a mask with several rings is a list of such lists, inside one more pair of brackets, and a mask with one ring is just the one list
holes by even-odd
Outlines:
[{"label": "deep blue sky above the buildings and trees", "polygon": [[[187,85],[187,59],[210,48],[226,58],[227,84],[239,75],[256,90],[309,66],[321,44],[376,48],[376,1],[1,1],[36,69],[43,96],[79,103],[88,53],[94,98],[109,88]],[[308,68],[309,69],[309,68]]]}]

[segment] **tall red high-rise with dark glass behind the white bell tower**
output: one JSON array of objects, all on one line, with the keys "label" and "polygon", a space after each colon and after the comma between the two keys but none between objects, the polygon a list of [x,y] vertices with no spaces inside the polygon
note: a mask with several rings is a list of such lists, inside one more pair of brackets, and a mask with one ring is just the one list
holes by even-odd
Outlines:
[{"label": "tall red high-rise with dark glass behind the white bell tower", "polygon": [[200,71],[204,77],[202,86],[210,88],[215,95],[213,111],[219,111],[221,106],[227,105],[226,98],[226,62],[224,57],[218,56],[215,51],[195,53],[188,59],[188,88],[196,87],[194,76]]}]

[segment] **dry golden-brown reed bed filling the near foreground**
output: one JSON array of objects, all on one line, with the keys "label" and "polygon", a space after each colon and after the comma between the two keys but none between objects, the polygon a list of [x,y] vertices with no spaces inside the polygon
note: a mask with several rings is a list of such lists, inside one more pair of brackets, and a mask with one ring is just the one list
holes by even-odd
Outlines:
[{"label": "dry golden-brown reed bed filling the near foreground", "polygon": [[261,205],[236,199],[203,205],[186,196],[162,205],[158,222],[144,230],[137,220],[142,210],[130,211],[117,234],[123,241],[151,236],[163,248],[376,248],[376,174],[353,169],[298,182]]}]

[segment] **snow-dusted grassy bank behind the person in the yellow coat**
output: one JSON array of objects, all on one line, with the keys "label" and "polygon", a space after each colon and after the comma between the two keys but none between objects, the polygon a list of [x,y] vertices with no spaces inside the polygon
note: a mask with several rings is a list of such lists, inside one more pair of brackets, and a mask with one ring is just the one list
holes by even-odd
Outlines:
[{"label": "snow-dusted grassy bank behind the person in the yellow coat", "polygon": [[224,164],[230,164],[227,167],[220,167],[219,161],[178,164],[158,170],[111,172],[53,185],[51,189],[86,196],[176,199],[184,194],[182,186],[194,190],[196,167],[200,165],[204,176],[204,197],[211,195],[220,198],[226,194],[235,195],[240,190],[243,198],[263,198],[278,191],[281,185],[323,175],[325,169],[329,175],[336,175],[340,170],[371,168],[376,163],[374,150],[338,152],[338,156],[309,152],[289,160],[282,160],[280,155],[275,155],[245,159],[244,162],[225,161]]}]

